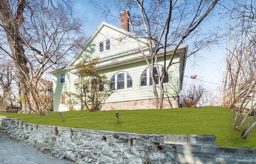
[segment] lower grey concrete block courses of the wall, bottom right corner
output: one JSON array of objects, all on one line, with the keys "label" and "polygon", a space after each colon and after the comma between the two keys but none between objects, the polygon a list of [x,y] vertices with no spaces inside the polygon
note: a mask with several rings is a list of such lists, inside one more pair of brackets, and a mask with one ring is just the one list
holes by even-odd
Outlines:
[{"label": "lower grey concrete block courses of the wall, bottom right corner", "polygon": [[256,149],[212,147],[201,145],[176,145],[176,150],[176,160],[180,163],[256,163]]}]

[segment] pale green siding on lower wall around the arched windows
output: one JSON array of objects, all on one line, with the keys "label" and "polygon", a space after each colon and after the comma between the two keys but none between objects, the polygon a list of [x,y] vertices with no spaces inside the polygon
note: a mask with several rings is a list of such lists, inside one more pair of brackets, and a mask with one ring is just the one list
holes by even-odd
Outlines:
[{"label": "pale green siding on lower wall around the arched windows", "polygon": [[[144,63],[143,65],[141,63]],[[163,64],[163,62],[159,62],[159,64]],[[170,67],[168,70],[169,72],[169,81],[170,79],[173,80],[173,84],[176,84],[175,86],[172,86],[169,82],[168,84],[164,84],[164,87],[166,89],[165,96],[164,97],[172,97],[177,96],[177,78],[170,78],[170,77],[177,77],[178,76],[178,65],[175,64]],[[107,69],[105,70],[106,76],[110,78],[118,73],[118,72],[128,72],[130,76],[132,77],[132,88],[122,89],[122,90],[116,90],[107,100],[106,102],[120,102],[120,101],[130,101],[130,100],[145,100],[145,99],[152,99],[154,98],[152,86],[140,86],[140,77],[142,72],[148,68],[146,65],[146,62],[139,62],[135,64],[129,64],[128,66],[120,66],[116,69]],[[174,90],[173,88],[176,88]],[[160,96],[160,95],[159,95]]]}]

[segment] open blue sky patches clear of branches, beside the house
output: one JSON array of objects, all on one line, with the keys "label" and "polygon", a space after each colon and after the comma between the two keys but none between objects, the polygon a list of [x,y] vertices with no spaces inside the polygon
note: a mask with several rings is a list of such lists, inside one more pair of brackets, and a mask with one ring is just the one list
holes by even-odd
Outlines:
[{"label": "open blue sky patches clear of branches, beside the house", "polygon": [[[83,30],[88,37],[92,35],[100,22],[108,22],[87,0],[74,1],[74,14],[86,21]],[[212,21],[213,24],[220,23],[218,19]],[[108,23],[120,27],[120,22],[118,21]],[[211,27],[211,24],[205,25],[204,30],[210,30]],[[190,57],[186,61],[183,86],[200,83],[218,99],[224,72],[225,51],[223,48],[215,46],[210,49],[201,50],[198,55],[200,56],[199,58]],[[197,78],[192,79],[190,78],[191,75],[197,75]]]}]

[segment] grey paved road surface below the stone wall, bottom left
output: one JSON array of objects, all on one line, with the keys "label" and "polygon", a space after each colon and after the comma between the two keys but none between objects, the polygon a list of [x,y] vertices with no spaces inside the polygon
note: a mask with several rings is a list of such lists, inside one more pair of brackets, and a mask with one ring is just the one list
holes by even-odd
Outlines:
[{"label": "grey paved road surface below the stone wall, bottom left", "polygon": [[0,164],[71,164],[0,135]]}]

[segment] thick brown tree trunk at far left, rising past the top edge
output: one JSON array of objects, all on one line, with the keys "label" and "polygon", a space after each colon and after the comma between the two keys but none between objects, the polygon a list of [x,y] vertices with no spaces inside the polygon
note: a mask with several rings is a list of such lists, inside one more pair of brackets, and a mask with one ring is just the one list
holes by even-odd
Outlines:
[{"label": "thick brown tree trunk at far left, rising past the top edge", "polygon": [[[2,21],[2,27],[4,28],[7,36],[7,42],[12,52],[12,58],[15,61],[15,67],[18,72],[18,79],[20,82],[20,89],[22,94],[29,93],[27,83],[29,81],[29,70],[27,67],[27,58],[24,54],[24,48],[22,46],[22,38],[20,37],[20,26],[24,22],[23,12],[25,8],[25,0],[20,0],[18,8],[16,10],[16,17],[13,18],[10,4],[8,0],[2,0],[0,3],[0,20]],[[22,111],[26,111],[25,100],[22,100]]]}]

